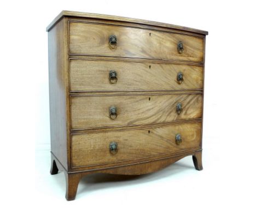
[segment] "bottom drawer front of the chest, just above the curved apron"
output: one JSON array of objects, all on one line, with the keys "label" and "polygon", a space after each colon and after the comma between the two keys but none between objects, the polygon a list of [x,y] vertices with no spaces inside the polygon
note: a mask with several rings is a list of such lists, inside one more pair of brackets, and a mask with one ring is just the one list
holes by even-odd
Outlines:
[{"label": "bottom drawer front of the chest, just above the curved apron", "polygon": [[[181,135],[177,144],[176,135]],[[72,167],[116,163],[197,148],[201,145],[201,123],[150,129],[73,134]],[[112,143],[112,151],[109,145]],[[114,144],[114,146],[113,146]],[[117,145],[117,148],[115,148]]]}]

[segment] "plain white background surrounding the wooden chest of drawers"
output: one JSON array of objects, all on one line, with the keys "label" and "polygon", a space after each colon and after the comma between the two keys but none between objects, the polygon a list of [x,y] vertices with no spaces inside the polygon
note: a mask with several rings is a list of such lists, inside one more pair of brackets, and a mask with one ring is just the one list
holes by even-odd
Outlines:
[{"label": "plain white background surrounding the wooden chest of drawers", "polygon": [[[255,207],[253,1],[2,1],[1,204],[36,207]],[[48,36],[61,10],[127,16],[208,30],[203,170],[191,157],[140,177],[89,175],[65,199],[50,175]]]}]

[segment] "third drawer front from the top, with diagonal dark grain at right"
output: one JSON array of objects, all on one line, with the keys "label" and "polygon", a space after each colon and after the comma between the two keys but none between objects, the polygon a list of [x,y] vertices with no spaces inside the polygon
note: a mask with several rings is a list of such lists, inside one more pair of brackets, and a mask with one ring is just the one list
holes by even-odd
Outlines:
[{"label": "third drawer front from the top, with diagonal dark grain at right", "polygon": [[[182,104],[180,114],[178,103]],[[201,94],[74,96],[71,97],[71,128],[94,129],[196,119],[201,118],[201,105]]]}]

